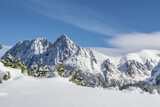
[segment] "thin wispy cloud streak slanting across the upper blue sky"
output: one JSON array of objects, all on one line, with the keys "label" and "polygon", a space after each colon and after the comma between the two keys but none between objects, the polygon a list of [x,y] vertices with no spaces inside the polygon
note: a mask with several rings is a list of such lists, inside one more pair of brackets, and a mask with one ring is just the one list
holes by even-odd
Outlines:
[{"label": "thin wispy cloud streak slanting across the upper blue sky", "polygon": [[[17,1],[17,0],[16,0]],[[20,0],[18,0],[20,2]],[[65,0],[23,0],[23,6],[42,15],[103,35],[117,35],[128,30],[103,17],[96,10]],[[123,28],[120,29],[120,28]]]}]

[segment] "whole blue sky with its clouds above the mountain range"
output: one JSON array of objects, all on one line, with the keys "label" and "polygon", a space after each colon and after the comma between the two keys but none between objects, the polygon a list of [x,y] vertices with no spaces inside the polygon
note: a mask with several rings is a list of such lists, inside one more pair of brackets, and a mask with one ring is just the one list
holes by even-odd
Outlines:
[{"label": "whole blue sky with its clouds above the mountain range", "polygon": [[159,49],[159,5],[159,0],[0,0],[0,43],[13,46],[37,37],[54,42],[67,34],[82,47],[111,55]]}]

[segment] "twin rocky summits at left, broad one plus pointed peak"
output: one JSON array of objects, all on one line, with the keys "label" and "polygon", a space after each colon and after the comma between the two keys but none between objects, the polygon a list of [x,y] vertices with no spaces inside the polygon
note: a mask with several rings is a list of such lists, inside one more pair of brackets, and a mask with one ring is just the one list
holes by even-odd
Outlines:
[{"label": "twin rocky summits at left, broad one plus pointed peak", "polygon": [[9,54],[14,57],[20,56],[28,66],[37,62],[40,58],[45,60],[45,65],[54,65],[55,61],[63,62],[68,57],[74,55],[78,46],[66,35],[61,35],[52,43],[45,38],[36,38],[18,42],[12,49],[2,57],[5,59]]}]

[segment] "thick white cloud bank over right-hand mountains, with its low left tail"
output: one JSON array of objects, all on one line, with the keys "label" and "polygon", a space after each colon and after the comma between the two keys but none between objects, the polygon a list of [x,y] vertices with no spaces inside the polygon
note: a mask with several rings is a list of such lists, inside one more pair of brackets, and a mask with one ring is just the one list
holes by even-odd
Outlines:
[{"label": "thick white cloud bank over right-hand mountains, with its low left tail", "polygon": [[105,41],[115,48],[90,48],[110,56],[123,56],[144,49],[160,49],[160,32],[124,34]]}]

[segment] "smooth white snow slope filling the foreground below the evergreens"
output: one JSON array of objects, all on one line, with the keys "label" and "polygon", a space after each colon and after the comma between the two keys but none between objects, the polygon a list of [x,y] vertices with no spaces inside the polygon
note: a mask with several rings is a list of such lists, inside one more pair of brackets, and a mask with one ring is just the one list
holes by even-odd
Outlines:
[{"label": "smooth white snow slope filling the foreground below the evergreens", "polygon": [[6,68],[11,79],[0,84],[0,107],[160,107],[160,96],[77,86],[61,77],[33,78]]}]

